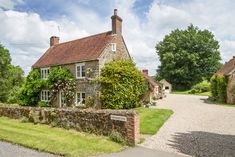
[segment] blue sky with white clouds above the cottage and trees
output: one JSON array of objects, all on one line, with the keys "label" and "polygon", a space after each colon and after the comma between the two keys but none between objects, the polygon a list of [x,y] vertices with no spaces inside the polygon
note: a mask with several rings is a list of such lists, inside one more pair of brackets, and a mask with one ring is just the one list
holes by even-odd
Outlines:
[{"label": "blue sky with white clouds above the cottage and trees", "polygon": [[51,36],[66,42],[109,31],[115,8],[132,58],[150,75],[160,65],[156,44],[190,24],[215,35],[222,63],[235,56],[234,0],[0,0],[0,43],[27,75]]}]

